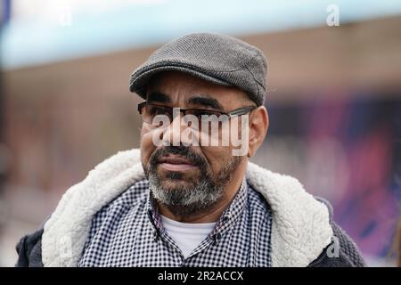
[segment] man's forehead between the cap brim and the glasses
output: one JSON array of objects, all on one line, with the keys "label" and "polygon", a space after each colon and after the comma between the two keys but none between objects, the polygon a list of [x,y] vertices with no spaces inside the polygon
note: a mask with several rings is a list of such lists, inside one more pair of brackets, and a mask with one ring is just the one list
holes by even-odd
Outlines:
[{"label": "man's forehead between the cap brim and the glasses", "polygon": [[247,99],[247,95],[239,88],[213,84],[179,71],[164,71],[151,77],[146,94],[153,92],[166,94],[173,102],[203,95],[215,98],[224,106]]}]

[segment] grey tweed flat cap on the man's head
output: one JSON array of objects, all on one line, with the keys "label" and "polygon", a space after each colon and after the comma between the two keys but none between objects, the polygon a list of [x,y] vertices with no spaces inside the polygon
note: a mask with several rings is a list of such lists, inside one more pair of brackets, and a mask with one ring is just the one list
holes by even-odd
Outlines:
[{"label": "grey tweed flat cap on the man's head", "polygon": [[266,95],[267,62],[255,46],[238,38],[195,33],[178,37],[151,53],[129,79],[129,90],[146,99],[146,85],[154,74],[176,70],[215,83],[236,86],[262,105]]}]

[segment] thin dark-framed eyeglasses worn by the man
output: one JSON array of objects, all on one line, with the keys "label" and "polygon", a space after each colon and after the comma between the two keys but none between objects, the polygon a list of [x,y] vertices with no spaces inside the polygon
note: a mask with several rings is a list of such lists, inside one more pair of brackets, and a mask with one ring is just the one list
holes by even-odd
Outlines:
[{"label": "thin dark-framed eyeglasses worn by the man", "polygon": [[[148,103],[146,101],[138,104],[138,112],[141,114],[143,122],[152,124],[153,119],[158,115],[167,116],[172,122],[173,120],[173,108],[158,104]],[[256,109],[256,106],[245,106],[239,109],[231,110],[229,112],[218,111],[218,110],[207,110],[207,109],[181,109],[179,112],[185,115],[192,115],[201,122],[213,122],[215,120],[222,121],[222,116],[225,118],[232,118],[233,116],[241,116],[250,113]],[[178,108],[176,108],[178,109]]]}]

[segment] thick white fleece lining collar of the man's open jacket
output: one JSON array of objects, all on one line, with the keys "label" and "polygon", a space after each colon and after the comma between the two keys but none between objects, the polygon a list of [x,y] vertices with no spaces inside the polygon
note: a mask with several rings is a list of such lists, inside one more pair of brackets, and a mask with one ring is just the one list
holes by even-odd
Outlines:
[{"label": "thick white fleece lining collar of the man's open jacket", "polygon": [[[119,151],[70,187],[45,223],[45,266],[77,266],[93,216],[112,199],[144,178],[139,150]],[[291,176],[249,163],[247,181],[273,212],[272,265],[307,266],[331,242],[328,208]]]}]

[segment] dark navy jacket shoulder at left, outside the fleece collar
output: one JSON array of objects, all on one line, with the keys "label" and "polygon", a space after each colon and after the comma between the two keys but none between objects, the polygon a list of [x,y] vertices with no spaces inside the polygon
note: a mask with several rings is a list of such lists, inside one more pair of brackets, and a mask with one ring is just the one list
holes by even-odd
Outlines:
[{"label": "dark navy jacket shoulder at left, outside the fleece collar", "polygon": [[16,246],[18,260],[16,267],[43,267],[42,234],[44,229],[25,235]]}]

